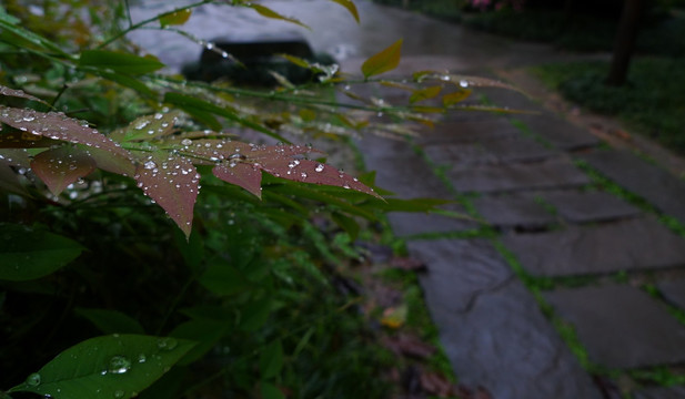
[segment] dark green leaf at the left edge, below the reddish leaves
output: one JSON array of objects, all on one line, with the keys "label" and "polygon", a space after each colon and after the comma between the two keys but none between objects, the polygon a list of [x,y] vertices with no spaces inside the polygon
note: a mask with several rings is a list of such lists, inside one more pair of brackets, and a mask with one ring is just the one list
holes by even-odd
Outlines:
[{"label": "dark green leaf at the left edge, below the reddish leaves", "polygon": [[57,234],[0,224],[0,279],[23,282],[47,276],[75,259],[83,248]]}]

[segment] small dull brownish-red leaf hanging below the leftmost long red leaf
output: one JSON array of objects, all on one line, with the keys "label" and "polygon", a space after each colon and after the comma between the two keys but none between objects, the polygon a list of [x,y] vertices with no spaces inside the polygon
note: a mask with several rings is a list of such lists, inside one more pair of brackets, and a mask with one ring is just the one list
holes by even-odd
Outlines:
[{"label": "small dull brownish-red leaf hanging below the leftmost long red leaf", "polygon": [[95,161],[83,151],[62,145],[36,155],[31,168],[52,194],[59,195],[68,185],[91,174]]}]

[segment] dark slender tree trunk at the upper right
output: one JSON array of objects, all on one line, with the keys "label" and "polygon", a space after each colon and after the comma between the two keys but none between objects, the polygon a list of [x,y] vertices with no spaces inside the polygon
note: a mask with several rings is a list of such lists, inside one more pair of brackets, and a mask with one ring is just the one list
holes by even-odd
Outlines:
[{"label": "dark slender tree trunk at the upper right", "polygon": [[635,50],[637,31],[639,30],[639,19],[645,9],[644,6],[645,0],[625,0],[623,4],[616,41],[614,42],[612,66],[608,76],[606,76],[606,84],[608,85],[619,86],[626,81],[631,57]]}]

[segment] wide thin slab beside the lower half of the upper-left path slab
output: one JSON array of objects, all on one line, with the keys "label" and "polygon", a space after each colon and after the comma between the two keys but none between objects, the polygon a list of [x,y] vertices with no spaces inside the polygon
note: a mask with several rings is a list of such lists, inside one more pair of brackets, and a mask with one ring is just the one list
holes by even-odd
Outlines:
[{"label": "wide thin slab beside the lower half of the upper-left path slab", "polygon": [[462,193],[564,188],[590,183],[583,172],[564,158],[532,164],[454,168],[447,175],[456,191]]}]

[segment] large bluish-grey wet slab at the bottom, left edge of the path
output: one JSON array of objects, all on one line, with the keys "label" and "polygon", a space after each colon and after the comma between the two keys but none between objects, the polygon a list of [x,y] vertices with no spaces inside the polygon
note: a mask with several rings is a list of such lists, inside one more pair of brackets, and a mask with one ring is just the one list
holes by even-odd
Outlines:
[{"label": "large bluish-grey wet slab at the bottom, left edge of the path", "polygon": [[488,242],[423,241],[409,248],[427,264],[421,285],[460,382],[497,399],[602,398]]}]

